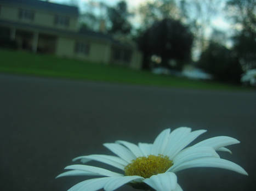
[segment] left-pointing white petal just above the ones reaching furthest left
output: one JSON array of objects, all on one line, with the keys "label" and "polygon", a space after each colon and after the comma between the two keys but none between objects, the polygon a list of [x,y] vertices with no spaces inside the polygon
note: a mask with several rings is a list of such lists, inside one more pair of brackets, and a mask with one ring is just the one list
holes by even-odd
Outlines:
[{"label": "left-pointing white petal just above the ones reaching furthest left", "polygon": [[126,165],[128,165],[128,163],[126,161],[124,161],[123,159],[121,159],[119,157],[109,156],[109,155],[104,155],[104,154],[91,154],[88,156],[81,156],[81,157],[74,158],[73,161],[79,160],[79,159],[81,159],[81,161],[83,163],[88,162],[89,160],[96,160],[101,163],[106,163],[111,166],[115,166],[116,168],[121,169],[121,170],[123,170],[124,167]]}]

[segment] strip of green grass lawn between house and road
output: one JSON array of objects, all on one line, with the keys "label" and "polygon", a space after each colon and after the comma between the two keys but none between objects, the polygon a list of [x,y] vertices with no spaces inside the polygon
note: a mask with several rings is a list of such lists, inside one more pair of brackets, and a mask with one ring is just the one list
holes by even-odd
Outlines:
[{"label": "strip of green grass lawn between house and road", "polygon": [[197,89],[248,90],[241,86],[217,82],[195,81],[174,76],[154,75],[117,65],[104,65],[40,55],[24,51],[0,49],[0,72],[35,76],[64,77],[90,81],[105,81],[135,85],[182,87]]}]

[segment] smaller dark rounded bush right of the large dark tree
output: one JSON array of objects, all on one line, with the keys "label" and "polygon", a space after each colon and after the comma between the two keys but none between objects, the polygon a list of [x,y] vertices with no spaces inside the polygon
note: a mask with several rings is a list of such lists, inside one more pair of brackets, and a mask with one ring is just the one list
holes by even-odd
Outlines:
[{"label": "smaller dark rounded bush right of the large dark tree", "polygon": [[219,81],[240,83],[242,68],[238,58],[223,45],[211,42],[202,53],[198,66]]}]

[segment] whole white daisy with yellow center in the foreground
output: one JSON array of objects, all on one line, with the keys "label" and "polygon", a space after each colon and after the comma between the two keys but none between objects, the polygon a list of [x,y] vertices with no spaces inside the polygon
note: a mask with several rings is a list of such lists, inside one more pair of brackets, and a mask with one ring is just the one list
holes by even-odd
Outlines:
[{"label": "whole white daisy with yellow center in the foreground", "polygon": [[[73,159],[86,163],[90,160],[115,166],[123,174],[89,165],[70,165],[57,177],[73,175],[105,176],[82,181],[71,187],[69,191],[95,191],[104,188],[115,190],[124,184],[134,188],[156,191],[182,191],[177,183],[175,172],[194,167],[215,167],[233,170],[243,175],[247,172],[229,160],[221,159],[215,151],[230,152],[225,146],[238,144],[240,141],[229,136],[216,136],[186,147],[206,130],[191,132],[191,128],[180,127],[170,133],[163,130],[153,144],[132,144],[118,140],[106,143],[105,147],[117,156],[92,154]],[[185,148],[186,147],[186,148]],[[56,177],[56,178],[57,178]]]}]

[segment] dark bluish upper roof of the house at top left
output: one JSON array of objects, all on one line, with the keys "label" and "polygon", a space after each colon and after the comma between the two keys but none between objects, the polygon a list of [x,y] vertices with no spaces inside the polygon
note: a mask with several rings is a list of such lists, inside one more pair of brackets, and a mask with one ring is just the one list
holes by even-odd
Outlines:
[{"label": "dark bluish upper roof of the house at top left", "polygon": [[0,3],[4,2],[5,4],[15,4],[25,5],[27,7],[33,7],[36,9],[44,9],[48,11],[53,11],[57,13],[62,13],[66,15],[75,15],[78,16],[78,8],[70,5],[63,5],[57,3],[51,3],[47,1],[38,1],[38,0],[0,0]]}]

